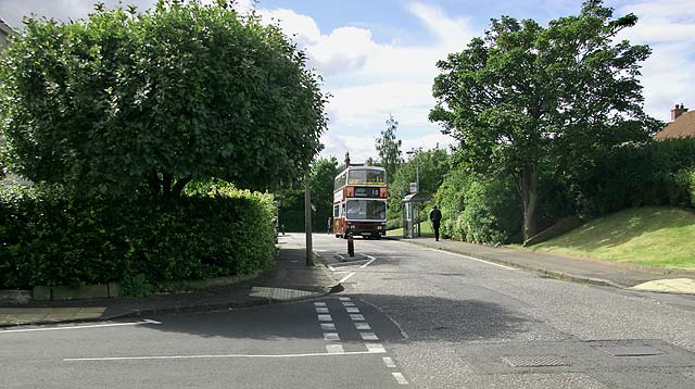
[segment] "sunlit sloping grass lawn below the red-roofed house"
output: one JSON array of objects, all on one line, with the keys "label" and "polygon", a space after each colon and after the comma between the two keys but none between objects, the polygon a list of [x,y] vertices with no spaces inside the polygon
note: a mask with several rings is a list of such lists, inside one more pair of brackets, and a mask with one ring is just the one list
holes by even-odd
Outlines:
[{"label": "sunlit sloping grass lawn below the red-roofed house", "polygon": [[665,206],[624,210],[530,248],[650,267],[695,269],[695,212]]}]

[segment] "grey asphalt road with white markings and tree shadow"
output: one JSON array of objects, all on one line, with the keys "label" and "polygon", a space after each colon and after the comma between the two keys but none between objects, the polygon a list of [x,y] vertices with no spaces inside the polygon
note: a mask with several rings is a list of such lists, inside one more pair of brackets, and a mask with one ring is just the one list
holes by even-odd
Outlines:
[{"label": "grey asphalt road with white markings and tree shadow", "polygon": [[[303,236],[281,237],[301,242]],[[0,331],[2,388],[693,388],[695,301],[314,236],[345,290]],[[40,329],[40,330],[35,330]]]}]

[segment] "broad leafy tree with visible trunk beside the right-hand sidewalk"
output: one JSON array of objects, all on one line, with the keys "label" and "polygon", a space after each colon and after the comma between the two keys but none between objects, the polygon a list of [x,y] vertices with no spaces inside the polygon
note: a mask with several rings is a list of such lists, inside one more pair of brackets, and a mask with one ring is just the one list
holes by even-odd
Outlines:
[{"label": "broad leafy tree with visible trunk beside the right-hand sidewalk", "polygon": [[541,176],[551,189],[564,172],[658,128],[643,111],[637,80],[649,48],[614,42],[635,23],[632,14],[614,20],[601,0],[545,28],[504,16],[438,63],[430,120],[457,138],[471,170],[515,178],[525,238],[536,233]]}]

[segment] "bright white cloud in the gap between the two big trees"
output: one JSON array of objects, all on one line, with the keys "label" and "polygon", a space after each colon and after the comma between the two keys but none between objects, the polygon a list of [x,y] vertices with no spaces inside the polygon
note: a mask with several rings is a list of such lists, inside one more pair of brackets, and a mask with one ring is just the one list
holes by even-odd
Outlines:
[{"label": "bright white cloud in the gap between the two big trees", "polygon": [[293,36],[333,96],[328,106],[329,131],[323,137],[324,156],[341,160],[350,151],[353,161],[377,158],[375,138],[390,114],[400,122],[396,135],[408,148],[452,142],[427,118],[434,105],[431,87],[438,74],[435,63],[462,50],[476,33],[469,18],[450,17],[440,8],[410,2],[406,9],[435,37],[434,42],[380,43],[369,29],[355,26],[323,34],[313,18],[292,10],[260,11],[266,23],[279,21]]}]

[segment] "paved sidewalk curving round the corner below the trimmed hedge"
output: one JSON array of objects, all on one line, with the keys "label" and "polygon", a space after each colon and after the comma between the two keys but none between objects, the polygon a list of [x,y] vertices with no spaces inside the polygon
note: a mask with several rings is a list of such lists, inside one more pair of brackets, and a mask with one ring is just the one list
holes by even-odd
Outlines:
[{"label": "paved sidewalk curving round the corner below the trimmed hedge", "polygon": [[208,290],[154,294],[141,299],[89,299],[0,305],[0,327],[41,323],[110,319],[150,314],[205,312],[267,305],[325,296],[337,286],[318,261],[305,265],[304,247],[282,237],[275,266],[255,279]]}]

